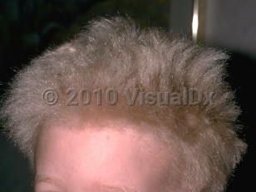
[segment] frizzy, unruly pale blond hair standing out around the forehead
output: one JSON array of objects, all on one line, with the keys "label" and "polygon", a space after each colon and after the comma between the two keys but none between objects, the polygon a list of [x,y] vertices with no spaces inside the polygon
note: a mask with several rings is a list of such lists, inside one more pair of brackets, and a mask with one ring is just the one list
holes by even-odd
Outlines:
[{"label": "frizzy, unruly pale blond hair standing out around the forehead", "polygon": [[[170,191],[223,191],[246,150],[236,134],[240,110],[224,81],[227,59],[224,52],[160,29],[140,29],[129,17],[98,18],[73,40],[47,50],[17,73],[2,102],[2,122],[32,166],[37,136],[47,123],[106,118],[150,125],[175,147],[180,172],[168,178]],[[56,105],[42,101],[49,88],[58,93]],[[101,88],[103,93],[113,88],[118,103],[67,106],[69,88]],[[130,106],[124,88],[131,95],[135,88],[161,93],[196,88],[213,92],[214,104]]]}]

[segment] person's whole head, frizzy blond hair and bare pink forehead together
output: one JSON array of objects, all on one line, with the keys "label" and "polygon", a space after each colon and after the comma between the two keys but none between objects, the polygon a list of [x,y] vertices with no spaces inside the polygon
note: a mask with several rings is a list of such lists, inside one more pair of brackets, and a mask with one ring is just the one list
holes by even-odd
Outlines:
[{"label": "person's whole head, frizzy blond hair and bare pink forehead together", "polygon": [[19,71],[1,116],[38,192],[223,191],[246,148],[226,60],[101,18]]}]

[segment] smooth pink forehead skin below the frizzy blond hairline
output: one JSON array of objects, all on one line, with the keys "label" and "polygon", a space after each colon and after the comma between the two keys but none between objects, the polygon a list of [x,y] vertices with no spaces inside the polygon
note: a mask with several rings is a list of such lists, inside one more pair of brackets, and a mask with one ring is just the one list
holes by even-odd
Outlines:
[{"label": "smooth pink forehead skin below the frizzy blond hairline", "polygon": [[153,135],[135,130],[45,127],[37,143],[35,191],[165,191],[166,153]]}]

